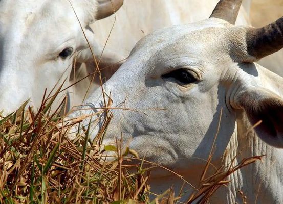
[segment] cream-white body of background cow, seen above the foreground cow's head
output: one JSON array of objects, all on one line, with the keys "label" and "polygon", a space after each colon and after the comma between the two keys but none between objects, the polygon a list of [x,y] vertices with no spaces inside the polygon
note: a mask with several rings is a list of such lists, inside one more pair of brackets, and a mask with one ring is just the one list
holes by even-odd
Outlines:
[{"label": "cream-white body of background cow, seen above the foreground cow's head", "polygon": [[[125,0],[116,12],[116,22],[106,48],[117,50],[124,57],[129,55],[134,45],[145,35],[172,25],[192,23],[206,19],[211,14],[217,0]],[[244,7],[236,24],[249,23],[250,0],[244,0]],[[114,16],[91,25],[99,42],[106,42],[114,23]]]}]

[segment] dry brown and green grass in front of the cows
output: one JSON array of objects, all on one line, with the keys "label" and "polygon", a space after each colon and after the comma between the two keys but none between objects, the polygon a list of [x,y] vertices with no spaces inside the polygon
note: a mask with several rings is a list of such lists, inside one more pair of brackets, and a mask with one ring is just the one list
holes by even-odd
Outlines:
[{"label": "dry brown and green grass in front of the cows", "polygon": [[[1,203],[175,203],[179,200],[168,189],[150,201],[147,184],[150,167],[143,167],[146,161],[123,164],[129,155],[138,156],[128,148],[122,151],[121,141],[117,141],[117,146],[101,147],[111,120],[109,109],[105,109],[109,117],[95,140],[89,140],[90,130],[68,139],[67,131],[74,124],[79,125],[83,118],[71,122],[51,113],[59,90],[53,97],[43,97],[37,113],[25,103],[16,112],[0,118]],[[115,152],[112,162],[105,161],[105,150]],[[219,187],[230,182],[227,177],[231,173],[258,159],[248,158],[236,166],[220,167],[207,179],[204,179],[205,168],[201,188],[191,195],[188,203],[195,200],[207,203]],[[130,171],[129,167],[136,170]]]}]

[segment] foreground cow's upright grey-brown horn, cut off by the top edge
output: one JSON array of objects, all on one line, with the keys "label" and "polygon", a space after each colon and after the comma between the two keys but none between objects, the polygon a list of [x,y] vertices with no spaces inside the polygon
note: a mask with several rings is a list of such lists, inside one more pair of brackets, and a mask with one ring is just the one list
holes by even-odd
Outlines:
[{"label": "foreground cow's upright grey-brown horn, cut off by the top edge", "polygon": [[209,18],[220,18],[235,24],[242,0],[220,0]]}]

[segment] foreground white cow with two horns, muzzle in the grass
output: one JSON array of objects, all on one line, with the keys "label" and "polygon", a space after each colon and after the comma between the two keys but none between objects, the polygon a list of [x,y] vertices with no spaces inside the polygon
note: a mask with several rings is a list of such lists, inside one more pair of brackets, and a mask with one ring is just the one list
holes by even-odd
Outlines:
[{"label": "foreground white cow with two horns, muzzle in the grass", "polygon": [[[162,29],[137,43],[103,85],[106,101],[111,92],[112,107],[127,108],[112,110],[104,142],[122,133],[141,158],[198,188],[222,112],[211,163],[227,166],[234,157],[234,164],[266,157],[233,173],[210,203],[243,203],[238,190],[247,203],[283,203],[283,78],[255,63],[283,47],[283,18],[259,29],[235,27],[241,2],[222,0],[209,19]],[[92,114],[103,105],[96,90],[71,117]],[[178,194],[183,181],[154,169],[150,184],[155,193],[174,184]]]}]

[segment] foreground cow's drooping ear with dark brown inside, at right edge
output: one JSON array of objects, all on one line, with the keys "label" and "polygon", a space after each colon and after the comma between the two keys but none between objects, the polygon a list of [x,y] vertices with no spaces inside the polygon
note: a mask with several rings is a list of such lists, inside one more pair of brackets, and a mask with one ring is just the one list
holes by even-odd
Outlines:
[{"label": "foreground cow's drooping ear with dark brown inside, at right edge", "polygon": [[259,138],[267,144],[283,148],[283,100],[275,93],[255,87],[246,87],[237,94],[236,105],[245,110]]}]

